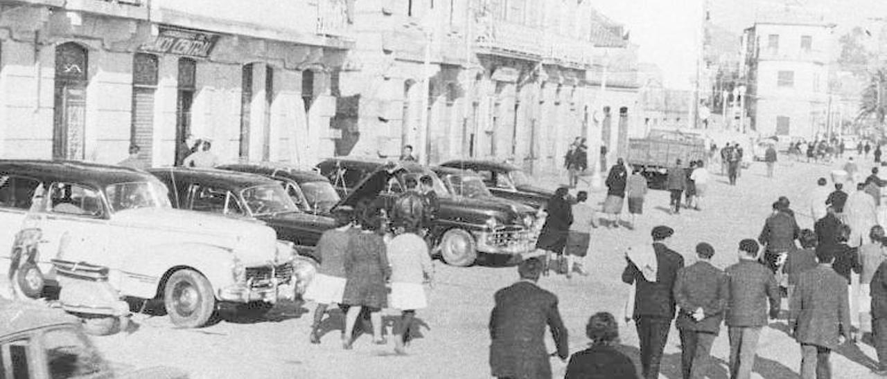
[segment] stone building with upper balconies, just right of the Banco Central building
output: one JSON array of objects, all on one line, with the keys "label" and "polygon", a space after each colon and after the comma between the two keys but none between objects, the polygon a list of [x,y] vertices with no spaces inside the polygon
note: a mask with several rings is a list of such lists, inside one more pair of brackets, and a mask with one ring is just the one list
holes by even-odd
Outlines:
[{"label": "stone building with upper balconies, just right of the Banco Central building", "polygon": [[577,136],[591,135],[598,151],[610,110],[627,135],[636,58],[621,27],[591,2],[362,0],[355,7],[349,61],[356,63],[341,73],[337,154],[391,156],[410,144],[423,162],[510,159],[538,171],[559,167]]}]

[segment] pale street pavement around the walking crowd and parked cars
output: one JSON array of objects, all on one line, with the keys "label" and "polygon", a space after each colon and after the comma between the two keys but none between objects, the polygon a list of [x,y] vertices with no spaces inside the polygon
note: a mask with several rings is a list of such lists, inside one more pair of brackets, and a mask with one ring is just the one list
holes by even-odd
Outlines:
[{"label": "pale street pavement around the walking crowd and parked cars", "polygon": [[[561,315],[569,329],[570,352],[585,348],[585,322],[596,312],[619,317],[628,289],[620,281],[625,246],[647,244],[655,225],[675,229],[670,246],[692,264],[695,244],[708,242],[715,248],[713,262],[726,267],[736,262],[736,247],[742,238],[756,238],[777,197],[787,196],[801,228],[812,228],[807,190],[820,176],[843,164],[801,163],[780,156],[773,179],[765,177],[765,166],[755,163],[742,172],[738,185],[726,177],[712,176],[707,204],[702,211],[668,213],[668,193],[650,191],[645,214],[634,230],[592,229],[592,248],[585,259],[589,276],[567,279],[543,277],[539,284],[560,298]],[[867,172],[867,168],[865,168]],[[719,167],[712,167],[718,173]],[[561,178],[541,178],[551,187]],[[605,192],[594,190],[592,203]],[[166,365],[188,371],[192,378],[487,378],[490,336],[487,329],[493,293],[517,280],[517,270],[496,264],[449,267],[435,261],[436,281],[429,290],[429,307],[418,311],[420,338],[408,346],[408,356],[397,356],[393,342],[372,344],[369,335],[360,337],[351,351],[341,349],[336,312],[326,321],[326,334],[319,345],[310,344],[308,334],[314,305],[287,303],[276,306],[262,320],[221,321],[204,329],[175,329],[165,317],[138,314],[137,329],[115,336],[95,337],[106,358],[136,367]],[[786,306],[787,302],[783,302]],[[397,313],[385,312],[390,325]],[[800,348],[787,334],[784,320],[772,321],[758,345],[753,378],[798,377]],[[638,339],[632,324],[620,329],[622,349],[638,362]],[[554,351],[550,335],[550,351]],[[712,348],[714,363],[710,377],[727,378],[729,347],[726,329]],[[845,345],[832,354],[835,378],[873,377],[875,351],[867,344]],[[566,363],[553,359],[554,377],[562,377]],[[640,373],[640,368],[639,368]],[[671,329],[660,377],[680,377],[680,348],[676,329]]]}]

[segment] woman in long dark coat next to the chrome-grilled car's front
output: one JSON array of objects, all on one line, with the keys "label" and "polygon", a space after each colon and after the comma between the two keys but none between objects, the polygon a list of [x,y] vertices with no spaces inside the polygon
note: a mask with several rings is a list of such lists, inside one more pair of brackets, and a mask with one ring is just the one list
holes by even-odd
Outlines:
[{"label": "woman in long dark coat next to the chrome-grilled car's front", "polygon": [[[552,254],[560,263],[563,249],[567,245],[569,226],[573,223],[573,210],[567,200],[568,195],[569,190],[561,187],[554,191],[554,195],[548,199],[546,205],[546,223],[542,225],[542,231],[536,241],[536,249],[545,251],[546,254],[545,275],[548,275],[548,270],[552,268]],[[557,267],[560,267],[560,264]],[[555,269],[555,272],[557,271],[559,270]]]}]

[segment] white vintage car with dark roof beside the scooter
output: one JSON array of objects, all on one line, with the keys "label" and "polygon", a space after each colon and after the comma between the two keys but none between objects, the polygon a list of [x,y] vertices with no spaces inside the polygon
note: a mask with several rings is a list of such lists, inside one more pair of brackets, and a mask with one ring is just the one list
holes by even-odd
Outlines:
[{"label": "white vintage car with dark roof beside the scooter", "polygon": [[[0,160],[0,275],[27,288],[54,282],[51,259],[108,267],[123,297],[162,299],[184,328],[205,325],[224,303],[264,309],[294,297],[294,249],[273,229],[172,209],[167,192],[119,166]],[[34,256],[11,252],[23,228],[42,233]]]}]

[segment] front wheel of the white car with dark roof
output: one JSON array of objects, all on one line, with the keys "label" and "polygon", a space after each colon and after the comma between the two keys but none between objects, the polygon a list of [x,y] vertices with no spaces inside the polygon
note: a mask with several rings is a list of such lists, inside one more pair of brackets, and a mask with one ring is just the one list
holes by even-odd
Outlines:
[{"label": "front wheel of the white car with dark roof", "polygon": [[173,325],[200,328],[216,312],[216,297],[206,277],[185,269],[169,276],[163,290],[163,305]]}]

